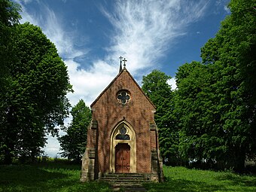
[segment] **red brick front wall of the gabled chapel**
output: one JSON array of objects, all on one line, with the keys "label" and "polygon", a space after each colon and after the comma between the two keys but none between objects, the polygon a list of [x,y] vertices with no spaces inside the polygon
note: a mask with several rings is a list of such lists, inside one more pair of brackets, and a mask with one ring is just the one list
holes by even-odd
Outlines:
[{"label": "red brick front wall of the gabled chapel", "polygon": [[[126,105],[122,105],[116,99],[119,90],[130,91],[131,99]],[[155,142],[151,142],[150,123],[154,123],[153,111],[155,108],[133,81],[130,74],[125,70],[121,72],[91,107],[93,119],[98,121],[99,172],[109,172],[111,131],[124,117],[133,126],[136,133],[137,172],[150,173],[151,148],[155,146]],[[88,139],[93,138],[88,136]],[[91,144],[88,141],[87,146],[90,147]]]}]

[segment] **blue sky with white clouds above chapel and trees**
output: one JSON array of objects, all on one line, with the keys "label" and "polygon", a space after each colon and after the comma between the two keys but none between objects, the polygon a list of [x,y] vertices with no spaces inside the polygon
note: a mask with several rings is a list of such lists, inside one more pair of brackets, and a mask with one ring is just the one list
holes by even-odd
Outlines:
[{"label": "blue sky with white clouds above chapel and trees", "polygon": [[[120,56],[140,85],[158,69],[175,89],[178,67],[201,61],[200,48],[230,14],[229,0],[13,1],[23,8],[20,23],[40,26],[56,45],[73,86],[67,95],[72,106],[79,99],[90,106],[118,74]],[[47,138],[45,153],[59,156],[59,143]]]}]

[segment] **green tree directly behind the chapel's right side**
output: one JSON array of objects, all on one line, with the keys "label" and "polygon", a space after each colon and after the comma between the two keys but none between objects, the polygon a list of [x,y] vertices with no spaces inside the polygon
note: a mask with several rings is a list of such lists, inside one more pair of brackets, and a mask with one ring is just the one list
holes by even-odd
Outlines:
[{"label": "green tree directly behind the chapel's right side", "polygon": [[156,105],[155,121],[159,129],[160,152],[169,164],[176,164],[178,154],[178,130],[173,114],[173,92],[167,81],[171,77],[158,70],[143,76],[142,90]]}]

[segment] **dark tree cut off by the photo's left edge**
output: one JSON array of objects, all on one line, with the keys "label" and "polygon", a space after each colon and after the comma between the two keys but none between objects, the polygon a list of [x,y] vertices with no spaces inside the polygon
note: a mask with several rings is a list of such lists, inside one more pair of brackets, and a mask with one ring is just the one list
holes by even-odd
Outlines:
[{"label": "dark tree cut off by the photo's left edge", "polygon": [[[10,66],[15,61],[13,50],[13,39],[15,35],[15,26],[19,23],[20,5],[9,0],[0,1],[0,122],[5,117],[6,100],[5,93],[10,87]],[[0,123],[0,138],[4,131],[2,123]],[[4,134],[5,135],[5,134]],[[4,139],[0,139],[0,160],[4,157],[6,145]]]}]

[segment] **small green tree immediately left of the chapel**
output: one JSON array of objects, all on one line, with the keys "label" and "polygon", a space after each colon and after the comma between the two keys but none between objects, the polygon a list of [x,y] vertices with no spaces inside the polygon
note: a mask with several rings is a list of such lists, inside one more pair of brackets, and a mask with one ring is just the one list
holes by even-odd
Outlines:
[{"label": "small green tree immediately left of the chapel", "polygon": [[73,120],[66,129],[67,134],[59,137],[60,148],[63,151],[61,156],[80,162],[87,145],[87,126],[92,114],[82,99],[72,108],[71,114]]}]

